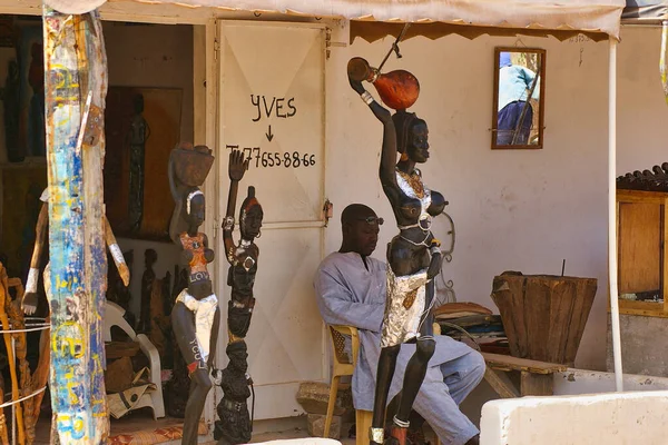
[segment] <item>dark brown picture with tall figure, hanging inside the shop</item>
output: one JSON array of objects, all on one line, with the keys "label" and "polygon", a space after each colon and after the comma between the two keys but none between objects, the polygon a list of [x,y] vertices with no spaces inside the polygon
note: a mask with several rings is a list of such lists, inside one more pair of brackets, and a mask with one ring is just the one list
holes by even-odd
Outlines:
[{"label": "dark brown picture with tall figure, hanging inside the shop", "polygon": [[169,240],[169,152],[180,141],[183,90],[109,87],[105,204],[117,237]]}]

